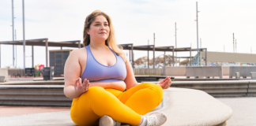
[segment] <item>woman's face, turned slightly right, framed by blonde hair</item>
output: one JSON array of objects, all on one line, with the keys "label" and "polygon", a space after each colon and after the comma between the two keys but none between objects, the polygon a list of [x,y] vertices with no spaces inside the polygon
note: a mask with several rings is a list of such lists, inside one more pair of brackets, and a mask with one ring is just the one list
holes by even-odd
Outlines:
[{"label": "woman's face, turned slightly right, framed by blonde hair", "polygon": [[91,40],[105,41],[108,38],[109,31],[107,19],[104,16],[97,16],[88,29],[87,34],[90,35]]}]

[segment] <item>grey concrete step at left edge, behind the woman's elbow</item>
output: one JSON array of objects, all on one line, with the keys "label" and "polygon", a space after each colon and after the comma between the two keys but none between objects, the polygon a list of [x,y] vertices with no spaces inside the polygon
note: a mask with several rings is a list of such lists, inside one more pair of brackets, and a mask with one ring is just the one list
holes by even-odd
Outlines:
[{"label": "grey concrete step at left edge, behind the woman's elbow", "polygon": [[71,106],[62,86],[1,85],[0,105],[12,106]]}]

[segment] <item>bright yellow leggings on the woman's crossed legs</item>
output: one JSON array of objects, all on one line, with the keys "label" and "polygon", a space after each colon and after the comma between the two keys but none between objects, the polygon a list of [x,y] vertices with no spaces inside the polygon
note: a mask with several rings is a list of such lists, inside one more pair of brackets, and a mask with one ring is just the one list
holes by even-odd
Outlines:
[{"label": "bright yellow leggings on the woman's crossed legs", "polygon": [[160,104],[163,94],[162,87],[154,83],[141,83],[125,92],[89,87],[87,92],[73,99],[70,117],[77,125],[95,125],[104,115],[137,125],[141,115]]}]

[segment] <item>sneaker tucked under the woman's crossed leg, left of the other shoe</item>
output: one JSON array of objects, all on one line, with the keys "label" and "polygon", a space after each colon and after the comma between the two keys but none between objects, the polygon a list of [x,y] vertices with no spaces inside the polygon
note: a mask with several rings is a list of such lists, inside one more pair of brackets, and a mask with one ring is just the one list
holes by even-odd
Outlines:
[{"label": "sneaker tucked under the woman's crossed leg, left of the other shoe", "polygon": [[121,123],[119,121],[113,120],[111,117],[104,115],[100,117],[99,126],[120,126]]}]

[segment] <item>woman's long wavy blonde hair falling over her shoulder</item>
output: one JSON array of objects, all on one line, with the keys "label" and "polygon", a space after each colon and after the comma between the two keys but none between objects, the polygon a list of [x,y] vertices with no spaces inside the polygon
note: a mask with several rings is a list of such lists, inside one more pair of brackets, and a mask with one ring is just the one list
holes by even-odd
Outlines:
[{"label": "woman's long wavy blonde hair falling over her shoulder", "polygon": [[88,46],[90,44],[90,36],[87,34],[87,31],[97,16],[104,16],[107,19],[108,27],[110,29],[109,36],[108,36],[107,40],[105,41],[105,45],[110,46],[111,49],[115,52],[115,54],[121,55],[124,58],[125,53],[122,52],[122,46],[116,45],[115,30],[114,30],[114,27],[113,27],[113,24],[111,21],[111,17],[109,17],[106,13],[104,13],[100,10],[93,11],[85,19],[85,28],[84,28],[84,35],[83,35],[84,46]]}]

